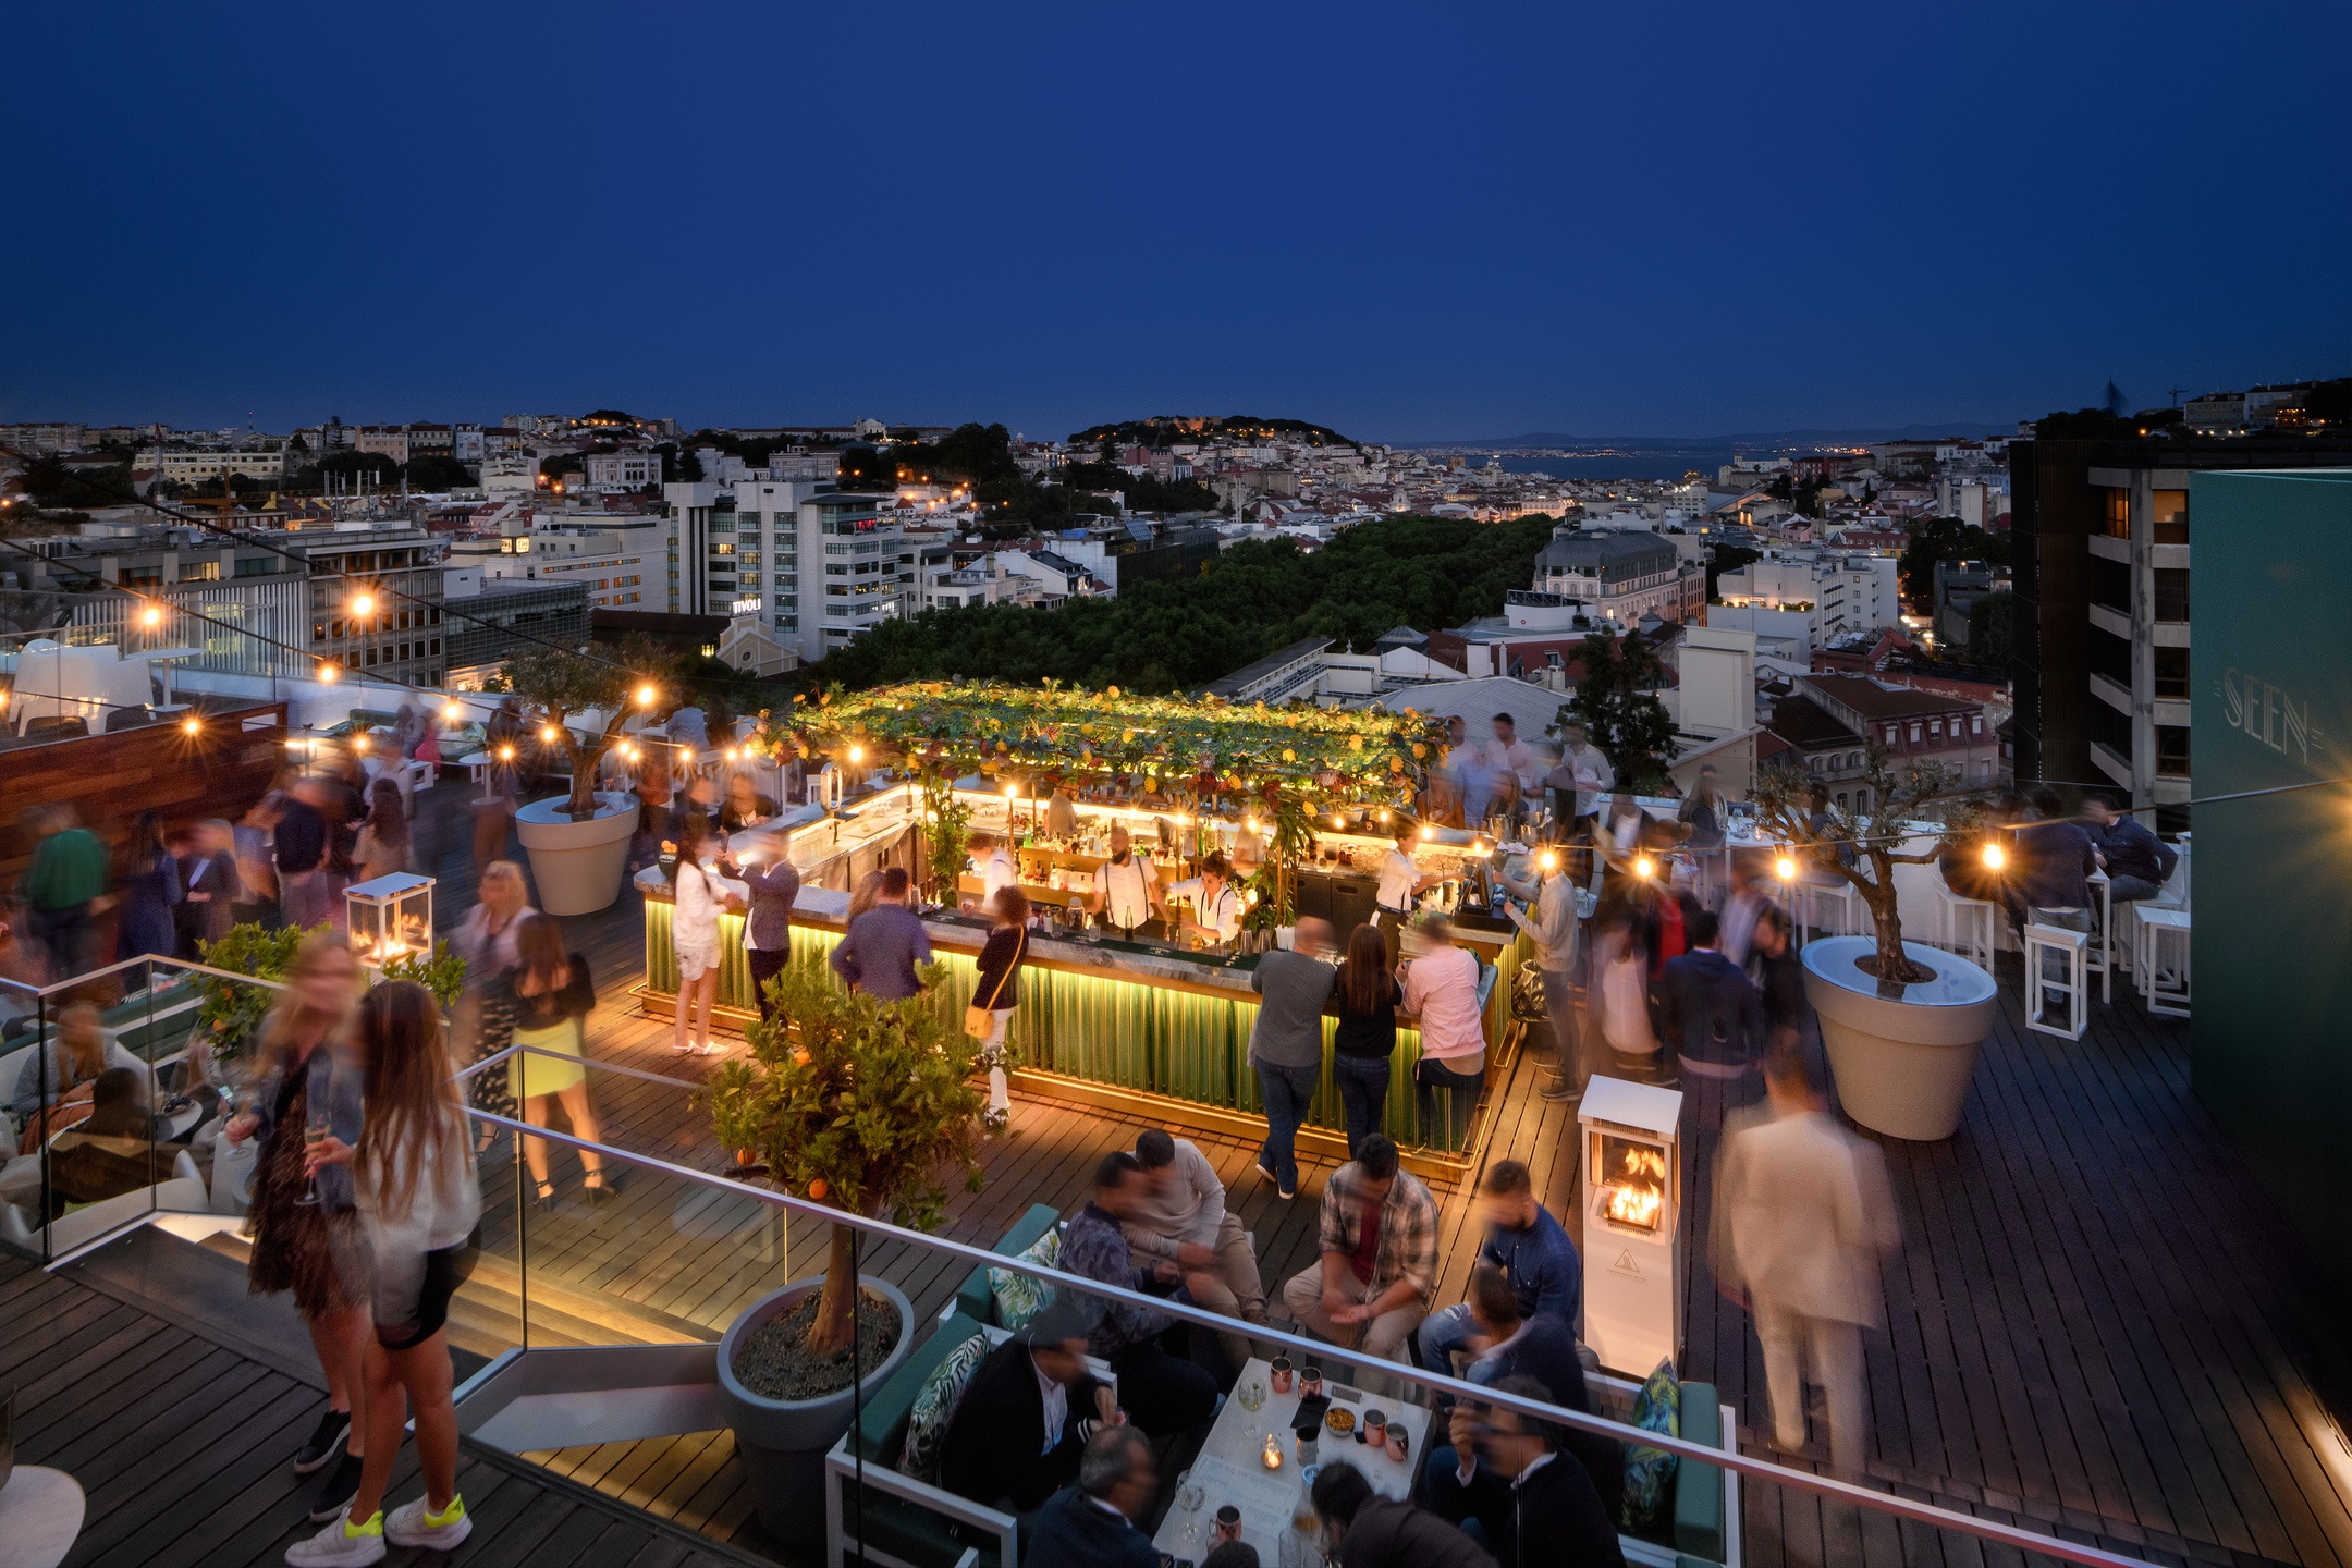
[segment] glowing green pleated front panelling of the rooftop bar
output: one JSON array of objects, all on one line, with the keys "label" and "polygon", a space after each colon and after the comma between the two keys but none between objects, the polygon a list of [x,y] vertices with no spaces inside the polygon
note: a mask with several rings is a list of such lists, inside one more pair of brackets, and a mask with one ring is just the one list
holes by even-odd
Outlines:
[{"label": "glowing green pleated front panelling of the rooftop bar", "polygon": [[[840,933],[826,926],[793,924],[795,959],[830,954],[837,940]],[[971,999],[974,957],[938,947],[938,959],[948,966],[941,1004],[962,1013]],[[1510,994],[1519,961],[1522,938],[1503,943],[1494,959],[1496,985],[1486,999],[1489,1065],[1498,1060],[1494,1046],[1510,1025]],[[1232,971],[1204,966],[1204,973],[1230,976]],[[649,992],[677,994],[670,905],[661,898],[644,900],[644,983]],[[717,1004],[746,1013],[757,1011],[750,964],[743,957],[741,914],[720,914]],[[1167,985],[1148,973],[1122,973],[1110,964],[1073,973],[1033,961],[1021,971],[1021,1006],[1014,1011],[1007,1034],[1014,1058],[1009,1065],[1254,1117],[1263,1114],[1258,1074],[1249,1070],[1249,1030],[1256,1016],[1258,1001],[1249,992],[1218,997]],[[1338,1088],[1331,1084],[1334,1027],[1336,1020],[1324,1018],[1324,1074],[1308,1121],[1345,1131]],[[1423,1138],[1421,1112],[1414,1103],[1414,1065],[1418,1060],[1421,1030],[1399,1025],[1381,1131],[1399,1147],[1458,1152],[1468,1140],[1472,1098],[1439,1091],[1439,1110],[1451,1110],[1444,1117],[1449,1126],[1432,1126],[1430,1135]]]}]

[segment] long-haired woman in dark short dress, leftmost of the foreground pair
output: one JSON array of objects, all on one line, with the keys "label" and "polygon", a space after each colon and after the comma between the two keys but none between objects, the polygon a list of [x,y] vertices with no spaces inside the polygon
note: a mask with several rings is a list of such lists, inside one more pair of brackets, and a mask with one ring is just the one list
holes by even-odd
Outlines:
[{"label": "long-haired woman in dark short dress, leftmost of the foreground pair", "polygon": [[[360,987],[350,943],[334,931],[303,938],[285,990],[261,1023],[249,1105],[221,1128],[230,1143],[261,1140],[254,1206],[245,1215],[245,1234],[254,1244],[249,1288],[254,1295],[294,1293],[327,1373],[327,1413],[294,1455],[294,1474],[332,1465],[310,1500],[313,1519],[334,1519],[360,1490],[367,1448],[360,1359],[369,1262],[358,1194],[350,1171],[341,1166],[315,1178],[303,1168],[306,1145],[336,1138],[358,1147],[362,1135],[362,1074],[350,1037]],[[339,1448],[343,1458],[336,1462]]]}]

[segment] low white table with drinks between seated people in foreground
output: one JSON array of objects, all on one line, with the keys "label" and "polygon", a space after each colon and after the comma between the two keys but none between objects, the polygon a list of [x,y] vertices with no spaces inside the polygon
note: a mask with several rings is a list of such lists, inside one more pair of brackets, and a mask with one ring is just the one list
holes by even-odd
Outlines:
[{"label": "low white table with drinks between seated people in foreground", "polygon": [[[1345,1368],[1334,1366],[1324,1375],[1324,1394],[1331,1399],[1331,1408],[1352,1410],[1357,1432],[1364,1429],[1364,1410],[1381,1410],[1388,1420],[1404,1425],[1411,1443],[1399,1462],[1388,1458],[1385,1446],[1374,1453],[1371,1443],[1357,1443],[1355,1434],[1338,1436],[1324,1427],[1317,1462],[1331,1465],[1345,1460],[1364,1472],[1371,1490],[1388,1497],[1411,1495],[1414,1474],[1421,1469],[1423,1446],[1430,1436],[1430,1413],[1421,1406],[1397,1403],[1388,1394],[1367,1394],[1352,1385],[1331,1382],[1331,1373],[1338,1371]],[[1240,1389],[1251,1378],[1265,1385],[1265,1403],[1256,1410],[1244,1410],[1242,1401],[1228,1392],[1225,1408],[1216,1413],[1216,1425],[1209,1427],[1209,1441],[1202,1443],[1200,1458],[1192,1460],[1192,1483],[1202,1488],[1200,1514],[1185,1514],[1171,1495],[1169,1514],[1160,1521],[1160,1533],[1152,1535],[1152,1547],[1178,1561],[1197,1563],[1209,1556],[1216,1509],[1228,1502],[1242,1509],[1242,1540],[1258,1549],[1258,1559],[1268,1568],[1275,1561],[1275,1542],[1291,1526],[1291,1509],[1298,1502],[1301,1486],[1298,1453],[1291,1443],[1291,1415],[1298,1413],[1298,1389],[1291,1387],[1289,1394],[1275,1394],[1275,1371],[1265,1356],[1251,1356],[1249,1366],[1242,1368],[1240,1382],[1232,1387]],[[1268,1432],[1282,1441],[1282,1469],[1265,1467]],[[1185,1523],[1200,1523],[1200,1533],[1190,1540],[1185,1537]]]}]

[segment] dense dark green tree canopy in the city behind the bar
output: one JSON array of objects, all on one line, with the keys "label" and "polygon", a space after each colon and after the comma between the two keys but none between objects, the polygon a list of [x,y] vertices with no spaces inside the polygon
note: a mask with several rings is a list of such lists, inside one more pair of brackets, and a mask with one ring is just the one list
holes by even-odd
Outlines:
[{"label": "dense dark green tree canopy in the city behind the bar", "polygon": [[1371,646],[1392,625],[1442,628],[1503,609],[1526,588],[1550,517],[1385,517],[1322,550],[1242,543],[1183,583],[1131,583],[1061,609],[934,609],[880,625],[811,665],[816,684],[976,675],[1047,677],[1145,693],[1188,691],[1301,637]]}]

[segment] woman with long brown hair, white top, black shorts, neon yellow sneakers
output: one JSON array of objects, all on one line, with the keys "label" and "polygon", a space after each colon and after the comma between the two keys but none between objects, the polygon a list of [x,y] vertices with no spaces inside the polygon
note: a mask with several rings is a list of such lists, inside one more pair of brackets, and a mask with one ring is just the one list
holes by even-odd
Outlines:
[{"label": "woman with long brown hair, white top, black shorts, neon yellow sneakers", "polygon": [[[386,1542],[452,1552],[473,1533],[456,1493],[456,1406],[449,1389],[449,1298],[480,1253],[482,1182],[466,1138],[466,1110],[449,1084],[440,1006],[393,980],[360,1004],[367,1126],[360,1143],[327,1138],[308,1168],[343,1171],[358,1194],[374,1262],[365,1345],[367,1458],[348,1505],[318,1535],[294,1542],[287,1563],[376,1563]],[[414,1406],[416,1469],[426,1490],[383,1514]]]}]

